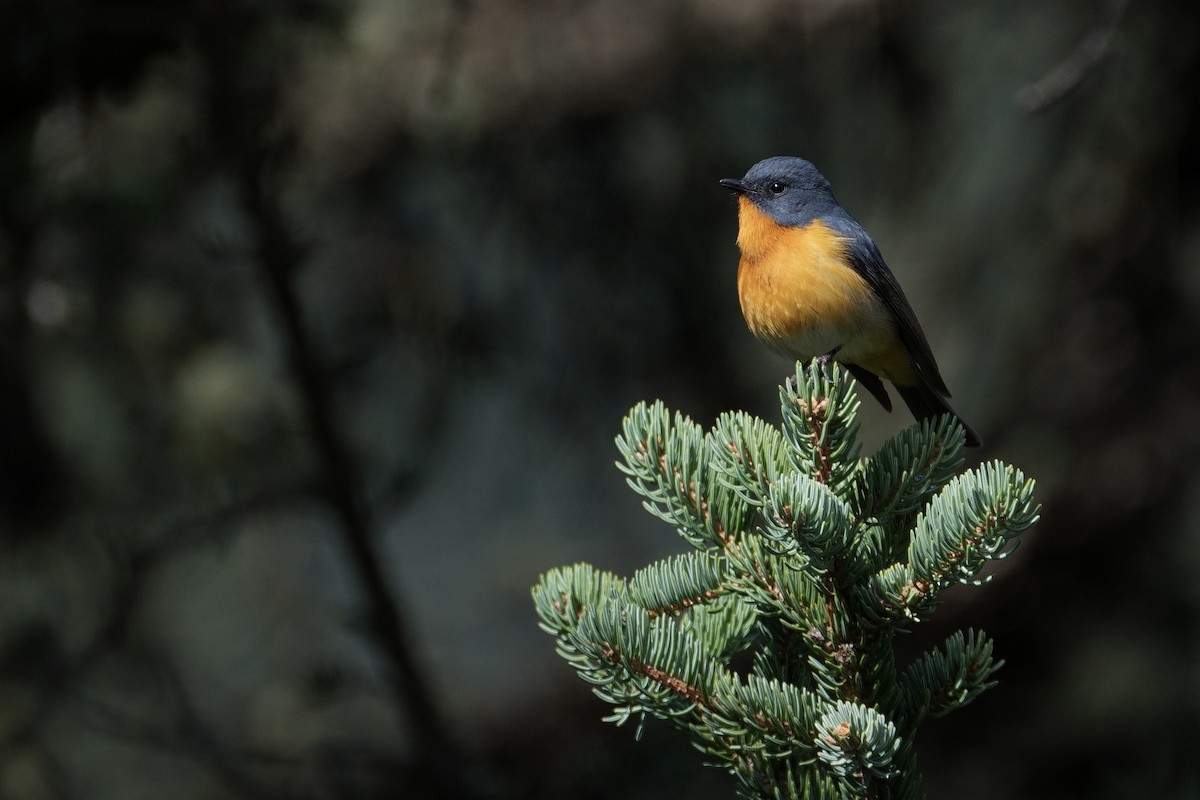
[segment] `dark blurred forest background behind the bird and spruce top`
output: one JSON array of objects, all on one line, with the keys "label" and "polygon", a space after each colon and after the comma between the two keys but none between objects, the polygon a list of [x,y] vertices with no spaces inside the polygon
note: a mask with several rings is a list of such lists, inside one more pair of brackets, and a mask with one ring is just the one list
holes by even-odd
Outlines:
[{"label": "dark blurred forest background behind the bird and spruce top", "polygon": [[[6,0],[0,798],[725,798],[528,589],[778,419],[716,179],[804,155],[1043,523],[931,796],[1200,796],[1190,1]],[[869,401],[868,401],[868,404]],[[864,410],[868,446],[908,423]]]}]

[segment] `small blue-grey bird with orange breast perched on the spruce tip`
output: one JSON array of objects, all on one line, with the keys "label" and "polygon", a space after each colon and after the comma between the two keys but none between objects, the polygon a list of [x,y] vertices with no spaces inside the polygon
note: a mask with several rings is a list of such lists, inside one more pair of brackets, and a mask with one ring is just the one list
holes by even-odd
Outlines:
[{"label": "small blue-grey bird with orange breast perched on the spruce tip", "polygon": [[804,158],[774,156],[720,185],[738,199],[738,300],[755,338],[792,360],[835,360],[892,410],[888,380],[917,420],[953,415],[917,314],[866,229]]}]

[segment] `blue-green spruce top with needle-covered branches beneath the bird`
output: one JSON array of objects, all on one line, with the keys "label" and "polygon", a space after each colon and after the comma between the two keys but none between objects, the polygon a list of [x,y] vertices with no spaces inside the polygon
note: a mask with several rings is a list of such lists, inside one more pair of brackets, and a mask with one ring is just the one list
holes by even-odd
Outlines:
[{"label": "blue-green spruce top with needle-covered branches beneath the bird", "polygon": [[949,416],[860,457],[836,363],[797,365],[780,401],[779,427],[630,410],[618,467],[691,549],[631,578],[551,570],[540,626],[607,721],[671,721],[745,798],[918,798],[917,728],[994,686],[1001,662],[974,631],[902,668],[893,640],[1012,551],[1037,519],[1033,481],[1000,462],[960,471]]}]

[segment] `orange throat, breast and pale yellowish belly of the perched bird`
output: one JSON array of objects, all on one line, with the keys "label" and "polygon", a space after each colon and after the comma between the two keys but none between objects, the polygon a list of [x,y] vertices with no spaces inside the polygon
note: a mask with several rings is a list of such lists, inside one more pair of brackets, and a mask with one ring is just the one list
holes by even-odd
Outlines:
[{"label": "orange throat, breast and pale yellowish belly of the perched bird", "polygon": [[790,359],[841,348],[839,361],[890,378],[888,373],[907,371],[907,354],[887,308],[847,265],[848,241],[818,221],[804,228],[780,225],[739,198],[742,313],[750,332]]}]

